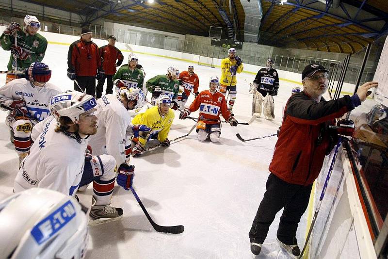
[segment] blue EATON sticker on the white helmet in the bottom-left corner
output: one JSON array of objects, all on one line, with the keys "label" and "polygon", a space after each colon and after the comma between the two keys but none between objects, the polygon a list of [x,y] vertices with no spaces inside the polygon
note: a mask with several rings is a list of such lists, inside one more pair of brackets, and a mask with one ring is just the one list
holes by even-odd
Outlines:
[{"label": "blue EATON sticker on the white helmet in the bottom-left corner", "polygon": [[76,210],[71,201],[67,201],[60,208],[41,220],[31,230],[31,235],[36,243],[42,244],[65,227],[76,215]]}]

